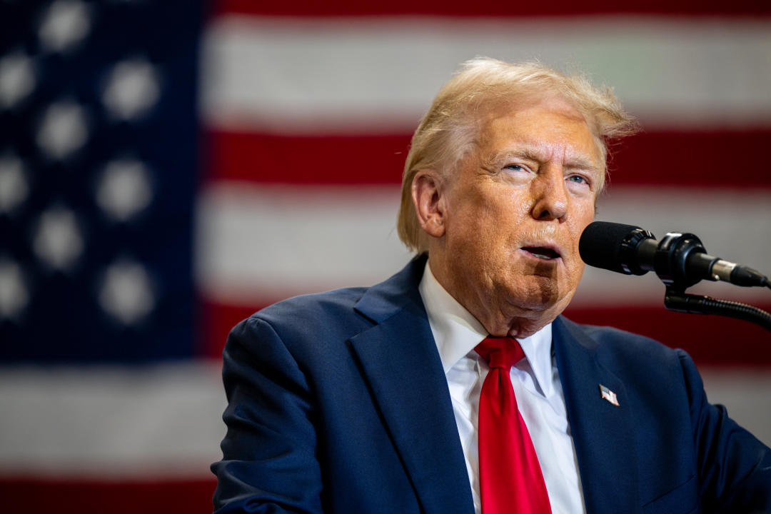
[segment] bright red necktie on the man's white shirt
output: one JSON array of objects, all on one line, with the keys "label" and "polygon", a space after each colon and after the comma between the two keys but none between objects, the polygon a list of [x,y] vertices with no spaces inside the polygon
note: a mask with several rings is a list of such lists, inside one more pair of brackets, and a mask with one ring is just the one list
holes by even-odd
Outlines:
[{"label": "bright red necktie on the man's white shirt", "polygon": [[524,352],[516,339],[492,337],[475,350],[490,365],[480,395],[482,514],[551,512],[544,475],[511,387],[511,366]]}]

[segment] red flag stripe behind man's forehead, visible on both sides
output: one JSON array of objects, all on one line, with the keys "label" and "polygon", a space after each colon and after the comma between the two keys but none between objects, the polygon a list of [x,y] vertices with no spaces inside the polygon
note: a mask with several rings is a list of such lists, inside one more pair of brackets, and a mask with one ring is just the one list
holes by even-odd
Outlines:
[{"label": "red flag stripe behind man's forehead, visible on both sides", "polygon": [[[261,183],[362,185],[401,182],[409,134],[278,136],[212,131],[209,178]],[[611,183],[771,188],[760,158],[771,128],[645,132],[611,146]]]}]

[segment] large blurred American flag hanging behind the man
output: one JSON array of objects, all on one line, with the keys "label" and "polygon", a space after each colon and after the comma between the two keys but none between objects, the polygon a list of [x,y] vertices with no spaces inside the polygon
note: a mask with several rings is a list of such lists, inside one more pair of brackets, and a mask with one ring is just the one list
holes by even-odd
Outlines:
[{"label": "large blurred American flag hanging behind the man", "polygon": [[[475,55],[638,117],[598,219],[771,273],[768,2],[0,1],[0,512],[210,512],[227,331],[406,264],[409,137]],[[663,293],[587,270],[566,314],[685,348],[771,443],[769,333]]]}]

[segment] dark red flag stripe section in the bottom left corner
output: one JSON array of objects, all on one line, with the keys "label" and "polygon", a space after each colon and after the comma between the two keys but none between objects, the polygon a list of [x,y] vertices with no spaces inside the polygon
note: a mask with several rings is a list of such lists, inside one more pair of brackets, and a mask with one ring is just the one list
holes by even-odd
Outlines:
[{"label": "dark red flag stripe section in the bottom left corner", "polygon": [[109,514],[210,514],[217,480],[78,481],[0,479],[0,510],[29,512],[109,512]]}]

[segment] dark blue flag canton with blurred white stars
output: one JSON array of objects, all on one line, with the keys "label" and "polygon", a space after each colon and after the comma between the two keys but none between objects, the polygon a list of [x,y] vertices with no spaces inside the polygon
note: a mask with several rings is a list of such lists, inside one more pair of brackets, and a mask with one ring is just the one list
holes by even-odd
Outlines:
[{"label": "dark blue flag canton with blurred white stars", "polygon": [[0,5],[0,361],[194,353],[201,11]]}]

